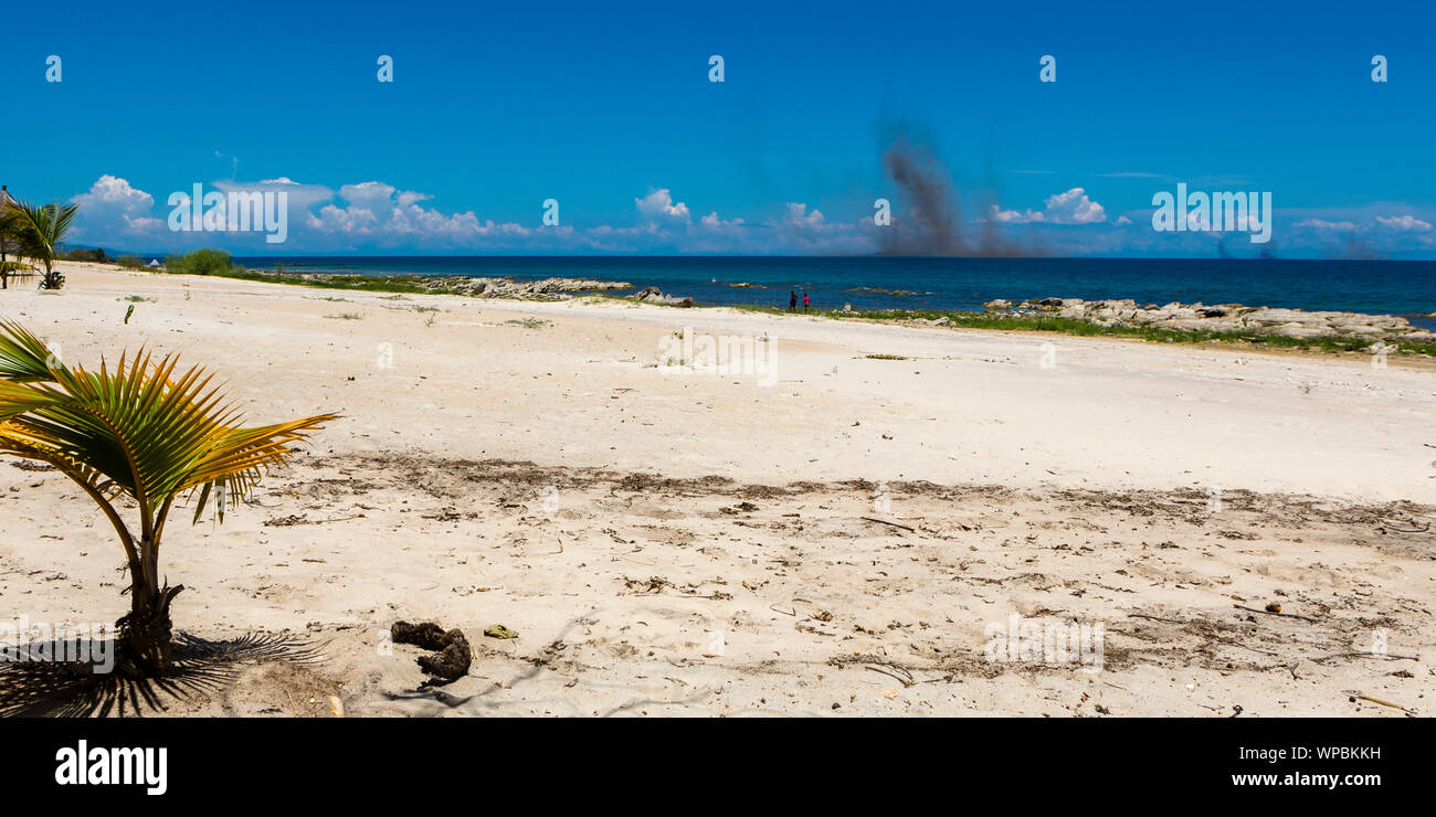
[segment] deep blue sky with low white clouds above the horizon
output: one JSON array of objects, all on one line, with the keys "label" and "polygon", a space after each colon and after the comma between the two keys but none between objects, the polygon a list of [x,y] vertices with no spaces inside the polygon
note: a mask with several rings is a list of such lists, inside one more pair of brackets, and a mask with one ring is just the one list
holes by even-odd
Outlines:
[{"label": "deep blue sky with low white clouds above the horizon", "polygon": [[[994,6],[16,4],[0,181],[106,248],[850,254],[920,223],[902,136],[969,247],[1436,257],[1429,6]],[[1271,192],[1271,244],[1153,230],[1178,182]],[[286,191],[287,240],[169,230],[194,184]]]}]

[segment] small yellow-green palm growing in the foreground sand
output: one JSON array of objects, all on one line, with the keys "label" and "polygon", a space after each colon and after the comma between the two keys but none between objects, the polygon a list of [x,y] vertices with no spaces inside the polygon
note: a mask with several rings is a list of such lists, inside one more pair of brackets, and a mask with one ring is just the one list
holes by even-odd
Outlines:
[{"label": "small yellow-green palm growing in the foreground sand", "polygon": [[[263,471],[336,415],[241,426],[213,375],[178,370],[174,355],[141,349],[98,372],[66,366],[16,323],[0,322],[0,454],[55,467],[75,481],[115,528],[129,567],[126,616],[116,622],[116,669],[129,678],[172,669],[169,606],[184,590],[159,570],[159,546],[177,498],[197,495],[198,523],[210,497],[223,521],[225,500],[250,495]],[[118,504],[128,498],[135,520]]]}]

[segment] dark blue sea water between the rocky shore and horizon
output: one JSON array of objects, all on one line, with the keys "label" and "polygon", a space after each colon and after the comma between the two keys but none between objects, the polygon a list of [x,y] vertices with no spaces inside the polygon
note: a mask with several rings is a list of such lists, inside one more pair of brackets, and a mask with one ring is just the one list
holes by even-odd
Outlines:
[{"label": "dark blue sea water between the rocky shore and horizon", "polygon": [[[1436,330],[1436,261],[1277,258],[893,258],[893,257],[299,257],[237,258],[293,273],[586,277],[656,286],[699,304],[979,310],[1005,297],[1130,297],[1137,303],[1242,303],[1400,314]],[[738,289],[748,283],[758,289]],[[892,291],[875,290],[902,290]]]}]

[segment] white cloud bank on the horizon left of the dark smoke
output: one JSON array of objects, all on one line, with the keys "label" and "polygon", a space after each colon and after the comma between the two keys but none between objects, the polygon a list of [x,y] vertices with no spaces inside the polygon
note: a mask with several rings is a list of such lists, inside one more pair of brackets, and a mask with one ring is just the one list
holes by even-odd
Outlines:
[{"label": "white cloud bank on the horizon left of the dark smoke", "polygon": [[[187,191],[175,191],[172,207],[122,177],[103,175],[89,191],[75,195],[80,205],[76,241],[135,250],[218,247],[258,254],[327,253],[744,253],[852,254],[870,253],[872,220],[830,223],[821,211],[787,202],[781,217],[761,223],[722,218],[717,211],[694,218],[688,204],[668,188],[633,198],[626,224],[572,225],[559,210],[559,224],[494,221],[474,211],[444,213],[425,202],[434,197],[381,181],[337,188],[304,184],[287,177],[253,184],[220,179],[211,191],[283,192],[289,230],[283,244],[266,244],[258,231],[180,231],[174,210],[191,207]],[[167,194],[165,201],[169,200]],[[560,204],[561,207],[561,204]]]}]

